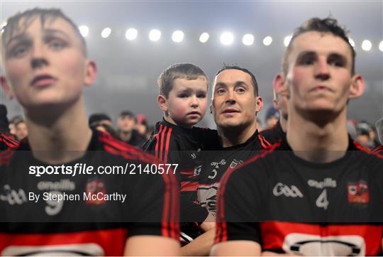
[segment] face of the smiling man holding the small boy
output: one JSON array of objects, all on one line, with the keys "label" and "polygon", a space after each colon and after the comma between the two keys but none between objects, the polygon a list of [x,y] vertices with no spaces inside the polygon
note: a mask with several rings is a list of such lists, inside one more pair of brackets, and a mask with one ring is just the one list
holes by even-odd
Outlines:
[{"label": "face of the smiling man holding the small boy", "polygon": [[243,129],[257,123],[262,98],[255,97],[251,77],[242,70],[223,70],[213,83],[211,111],[219,129]]}]

